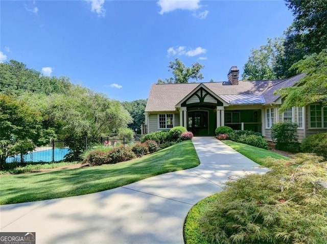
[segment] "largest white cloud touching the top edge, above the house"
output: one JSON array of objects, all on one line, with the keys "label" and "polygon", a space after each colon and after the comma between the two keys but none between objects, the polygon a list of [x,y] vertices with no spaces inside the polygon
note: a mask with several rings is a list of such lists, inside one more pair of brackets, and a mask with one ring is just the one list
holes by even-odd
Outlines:
[{"label": "largest white cloud touching the top edge, above the house", "polygon": [[157,5],[161,8],[159,14],[168,13],[176,9],[196,10],[200,8],[200,0],[159,0]]}]

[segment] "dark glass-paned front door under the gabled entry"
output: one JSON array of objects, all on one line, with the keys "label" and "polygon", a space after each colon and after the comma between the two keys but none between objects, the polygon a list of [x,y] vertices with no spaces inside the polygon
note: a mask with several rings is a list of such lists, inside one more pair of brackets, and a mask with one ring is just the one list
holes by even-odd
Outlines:
[{"label": "dark glass-paned front door under the gabled entry", "polygon": [[195,135],[207,135],[208,131],[208,112],[191,111],[188,113],[188,130]]}]

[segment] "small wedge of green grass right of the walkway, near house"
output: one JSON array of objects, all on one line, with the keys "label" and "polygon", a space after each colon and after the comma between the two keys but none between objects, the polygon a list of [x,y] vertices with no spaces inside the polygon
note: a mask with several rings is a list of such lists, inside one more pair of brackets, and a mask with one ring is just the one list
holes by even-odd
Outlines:
[{"label": "small wedge of green grass right of the walkway, near house", "polygon": [[223,140],[222,142],[262,166],[265,166],[265,160],[268,157],[272,157],[274,159],[289,159],[289,157],[283,156],[281,154],[266,149],[246,145],[243,143],[233,142],[229,140]]}]

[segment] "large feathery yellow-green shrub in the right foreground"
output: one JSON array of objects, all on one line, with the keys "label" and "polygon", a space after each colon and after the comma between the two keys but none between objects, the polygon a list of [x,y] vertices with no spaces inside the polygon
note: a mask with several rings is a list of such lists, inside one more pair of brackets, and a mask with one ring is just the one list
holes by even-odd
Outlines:
[{"label": "large feathery yellow-green shrub in the right foreground", "polygon": [[199,225],[207,243],[325,243],[327,162],[297,154],[226,183]]}]

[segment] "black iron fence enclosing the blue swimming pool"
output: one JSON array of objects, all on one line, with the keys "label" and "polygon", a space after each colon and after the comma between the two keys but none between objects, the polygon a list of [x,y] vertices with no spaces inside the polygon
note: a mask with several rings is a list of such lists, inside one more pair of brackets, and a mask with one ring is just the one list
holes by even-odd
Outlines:
[{"label": "black iron fence enclosing the blue swimming pool", "polygon": [[134,138],[120,138],[118,136],[96,137],[96,138],[74,138],[66,140],[51,140],[48,145],[35,147],[27,154],[16,154],[6,159],[7,163],[35,163],[35,162],[59,162],[81,160],[81,154],[94,146],[117,147],[136,143],[141,135]]}]

